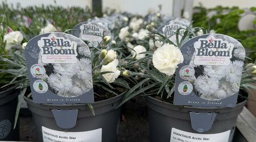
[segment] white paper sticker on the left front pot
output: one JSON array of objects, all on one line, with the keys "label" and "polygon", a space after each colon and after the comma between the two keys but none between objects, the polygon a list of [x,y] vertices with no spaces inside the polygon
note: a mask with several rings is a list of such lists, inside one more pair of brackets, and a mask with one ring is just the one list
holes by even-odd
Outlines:
[{"label": "white paper sticker on the left front pot", "polygon": [[42,126],[43,141],[102,141],[102,128],[84,132],[63,132]]}]

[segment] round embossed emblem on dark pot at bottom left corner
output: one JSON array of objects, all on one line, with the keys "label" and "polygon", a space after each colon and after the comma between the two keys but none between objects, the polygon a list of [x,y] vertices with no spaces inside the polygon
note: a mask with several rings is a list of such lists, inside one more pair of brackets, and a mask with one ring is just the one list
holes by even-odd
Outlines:
[{"label": "round embossed emblem on dark pot at bottom left corner", "polygon": [[9,135],[10,131],[11,131],[10,120],[7,120],[7,119],[2,120],[0,122],[0,140],[7,137]]}]

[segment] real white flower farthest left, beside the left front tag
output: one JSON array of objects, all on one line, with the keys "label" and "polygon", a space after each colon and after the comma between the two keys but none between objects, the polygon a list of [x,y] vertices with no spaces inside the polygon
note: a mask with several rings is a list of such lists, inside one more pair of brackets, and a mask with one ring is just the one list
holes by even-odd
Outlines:
[{"label": "real white flower farthest left, beside the left front tag", "polygon": [[20,31],[10,32],[9,34],[3,37],[3,40],[6,41],[6,50],[10,50],[14,45],[19,45],[23,40],[23,35]]}]

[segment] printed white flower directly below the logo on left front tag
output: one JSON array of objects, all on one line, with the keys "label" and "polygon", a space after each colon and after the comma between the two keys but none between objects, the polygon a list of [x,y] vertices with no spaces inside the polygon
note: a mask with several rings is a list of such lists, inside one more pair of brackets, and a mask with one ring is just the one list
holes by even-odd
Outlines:
[{"label": "printed white flower directly below the logo on left front tag", "polygon": [[[78,59],[77,59],[77,62],[79,62]],[[56,73],[59,73],[63,76],[70,76],[70,77],[72,77],[78,70],[77,64],[69,64],[69,63],[54,64],[53,68]]]}]

